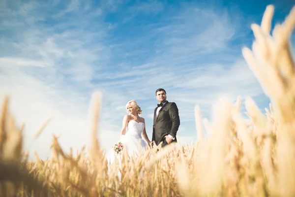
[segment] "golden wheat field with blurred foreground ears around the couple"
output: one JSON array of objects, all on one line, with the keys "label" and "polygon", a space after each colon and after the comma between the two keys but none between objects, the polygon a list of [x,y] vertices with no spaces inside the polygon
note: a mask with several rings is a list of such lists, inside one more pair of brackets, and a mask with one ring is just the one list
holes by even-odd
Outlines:
[{"label": "golden wheat field with blurred foreground ears around the couple", "polygon": [[[242,54],[271,100],[260,111],[245,98],[250,121],[236,103],[221,98],[212,121],[202,121],[195,107],[198,142],[150,148],[137,160],[122,156],[121,166],[107,165],[97,138],[101,99],[92,97],[92,142],[76,157],[64,153],[53,136],[52,159],[28,162],[23,126],[17,126],[4,99],[0,119],[1,197],[294,197],[295,64],[289,43],[295,6],[270,34],[274,6],[261,25],[253,24],[252,50]],[[209,133],[204,137],[204,132]],[[41,131],[41,130],[40,130]],[[36,135],[38,135],[38,132]],[[180,139],[181,140],[181,139]],[[89,157],[86,157],[88,153]],[[120,172],[120,176],[118,175]]]}]

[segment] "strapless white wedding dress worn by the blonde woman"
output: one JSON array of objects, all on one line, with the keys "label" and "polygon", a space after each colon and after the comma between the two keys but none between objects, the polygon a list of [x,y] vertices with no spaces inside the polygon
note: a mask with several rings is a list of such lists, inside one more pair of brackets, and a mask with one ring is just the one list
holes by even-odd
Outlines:
[{"label": "strapless white wedding dress worn by the blonde woman", "polygon": [[[128,155],[131,156],[139,156],[140,151],[145,148],[148,148],[148,143],[144,139],[142,139],[141,133],[145,129],[144,123],[136,122],[135,120],[131,120],[128,122],[127,129],[125,135],[121,137],[120,142],[123,144],[123,149],[125,148]],[[141,148],[140,148],[141,147]],[[119,155],[117,156],[114,149],[112,148],[107,154],[108,164],[111,165],[116,159],[119,159]],[[120,161],[119,161],[120,164]]]}]

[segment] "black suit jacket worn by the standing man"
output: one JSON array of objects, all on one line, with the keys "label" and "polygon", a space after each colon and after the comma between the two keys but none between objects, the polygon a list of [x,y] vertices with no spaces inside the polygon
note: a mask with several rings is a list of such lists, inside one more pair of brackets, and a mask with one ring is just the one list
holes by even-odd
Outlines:
[{"label": "black suit jacket worn by the standing man", "polygon": [[165,140],[166,135],[172,135],[175,137],[172,142],[177,142],[176,134],[180,125],[180,119],[178,115],[178,108],[175,102],[168,102],[162,106],[156,116],[157,108],[154,110],[154,120],[152,128],[152,141],[159,145],[163,141],[162,146],[167,145],[168,143]]}]

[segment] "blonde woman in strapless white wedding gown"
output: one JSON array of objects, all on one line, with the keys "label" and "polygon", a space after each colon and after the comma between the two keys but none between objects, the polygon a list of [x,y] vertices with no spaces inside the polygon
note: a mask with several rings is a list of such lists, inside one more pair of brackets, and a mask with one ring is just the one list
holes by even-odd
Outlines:
[{"label": "blonde woman in strapless white wedding gown", "polygon": [[[123,118],[119,141],[123,144],[123,149],[126,149],[130,157],[139,156],[140,150],[148,148],[148,144],[151,143],[148,139],[145,119],[139,116],[142,110],[135,100],[127,102],[126,110],[128,114]],[[145,140],[142,139],[142,134]],[[142,147],[141,149],[140,146]],[[108,164],[111,165],[117,157],[114,148],[112,148],[107,154]]]}]

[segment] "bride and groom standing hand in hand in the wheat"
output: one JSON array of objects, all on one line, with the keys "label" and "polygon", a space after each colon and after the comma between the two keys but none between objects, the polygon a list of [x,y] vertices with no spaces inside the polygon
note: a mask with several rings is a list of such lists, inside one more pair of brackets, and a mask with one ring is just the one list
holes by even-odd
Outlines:
[{"label": "bride and groom standing hand in hand in the wheat", "polygon": [[[135,100],[126,104],[127,115],[123,118],[123,125],[120,132],[122,147],[127,149],[128,155],[140,154],[140,146],[147,148],[149,145],[162,147],[172,142],[177,142],[176,134],[180,125],[178,108],[175,102],[167,100],[166,91],[157,89],[156,99],[159,104],[154,109],[152,140],[150,141],[146,132],[145,119],[140,117],[142,110]],[[144,139],[142,139],[142,135]],[[108,152],[108,160],[114,156],[114,149]]]}]

